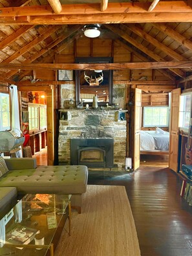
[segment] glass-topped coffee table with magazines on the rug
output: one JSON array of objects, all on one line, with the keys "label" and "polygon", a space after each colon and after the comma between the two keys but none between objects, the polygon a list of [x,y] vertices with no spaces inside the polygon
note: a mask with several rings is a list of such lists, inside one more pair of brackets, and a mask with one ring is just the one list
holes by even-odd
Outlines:
[{"label": "glass-topped coffee table with magazines on the rug", "polygon": [[54,255],[65,222],[71,228],[71,195],[27,194],[0,220],[0,255]]}]

